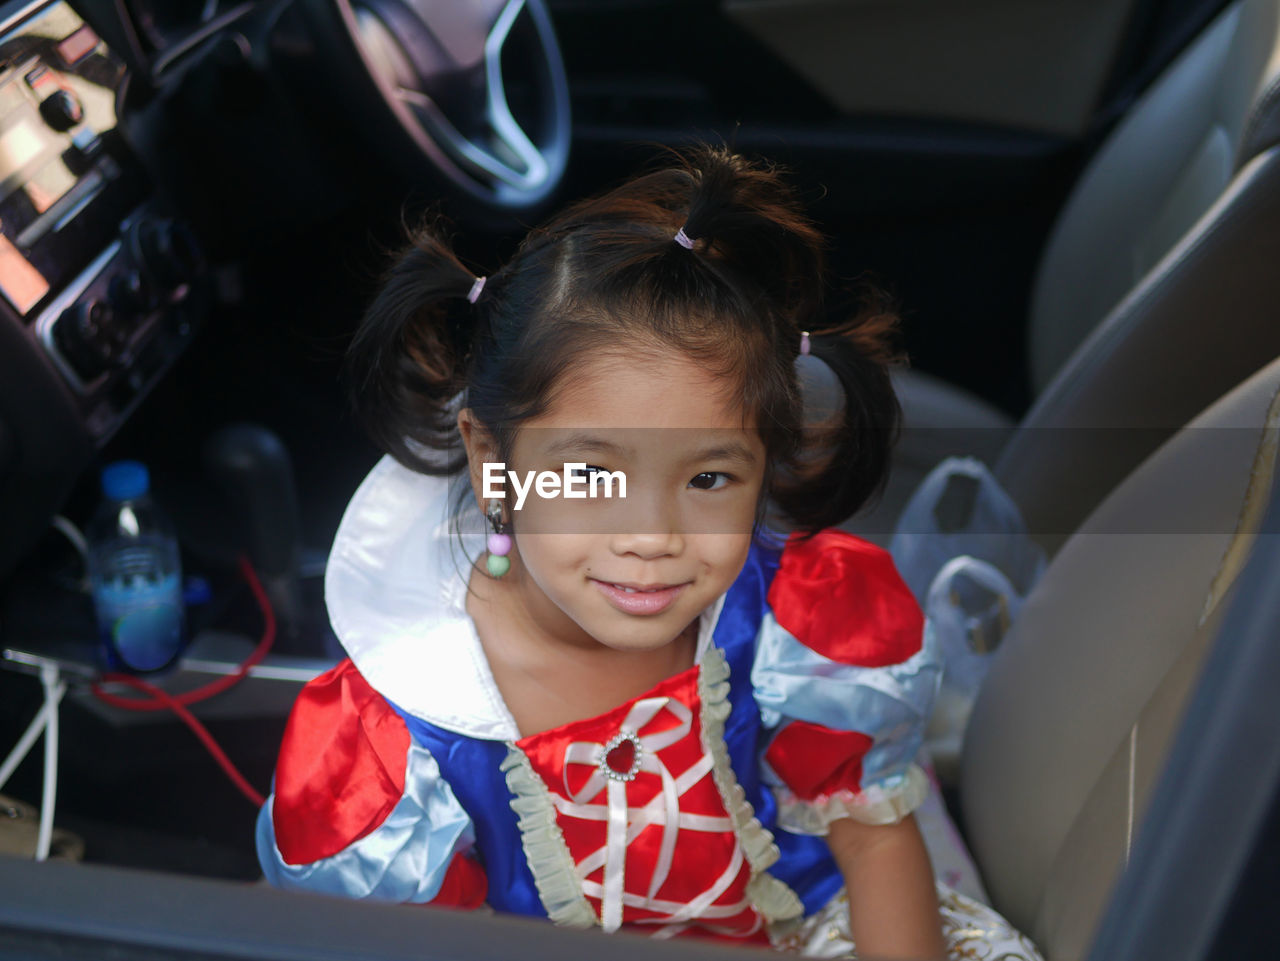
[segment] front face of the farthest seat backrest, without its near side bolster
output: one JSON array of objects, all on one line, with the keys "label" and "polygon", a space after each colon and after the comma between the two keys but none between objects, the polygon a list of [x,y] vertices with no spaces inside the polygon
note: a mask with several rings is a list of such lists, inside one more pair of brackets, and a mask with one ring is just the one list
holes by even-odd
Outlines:
[{"label": "front face of the farthest seat backrest, without its near side bolster", "polygon": [[[1228,6],[1134,102],[1053,225],[1032,292],[1032,383],[1044,390],[1094,326],[1274,146],[1280,4]],[[1176,265],[1166,265],[1176,269]],[[1219,392],[1221,394],[1224,392]]]}]

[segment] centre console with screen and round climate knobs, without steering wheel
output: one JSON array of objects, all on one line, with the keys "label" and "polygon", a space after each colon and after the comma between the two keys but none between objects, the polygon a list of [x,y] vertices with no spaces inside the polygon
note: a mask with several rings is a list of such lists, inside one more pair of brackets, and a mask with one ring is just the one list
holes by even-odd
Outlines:
[{"label": "centre console with screen and round climate knobs, without steering wheel", "polygon": [[65,0],[0,6],[0,576],[209,311],[119,131],[131,79]]}]

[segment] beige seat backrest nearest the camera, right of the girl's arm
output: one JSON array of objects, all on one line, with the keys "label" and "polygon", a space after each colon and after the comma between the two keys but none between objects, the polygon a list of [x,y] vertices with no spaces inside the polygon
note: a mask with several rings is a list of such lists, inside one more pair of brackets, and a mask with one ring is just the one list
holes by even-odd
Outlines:
[{"label": "beige seat backrest nearest the camera, right of the girl's arm", "polygon": [[1027,599],[974,706],[964,823],[995,906],[1050,961],[1088,948],[1257,534],[1277,390],[1280,360],[1112,491]]}]

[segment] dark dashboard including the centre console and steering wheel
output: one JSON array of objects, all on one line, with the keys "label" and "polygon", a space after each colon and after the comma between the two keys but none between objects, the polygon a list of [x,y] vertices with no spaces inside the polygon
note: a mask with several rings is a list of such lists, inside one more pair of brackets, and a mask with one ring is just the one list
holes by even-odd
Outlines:
[{"label": "dark dashboard including the centre console and steering wheel", "polygon": [[0,578],[215,311],[293,308],[275,253],[529,223],[568,145],[543,0],[0,0]]}]

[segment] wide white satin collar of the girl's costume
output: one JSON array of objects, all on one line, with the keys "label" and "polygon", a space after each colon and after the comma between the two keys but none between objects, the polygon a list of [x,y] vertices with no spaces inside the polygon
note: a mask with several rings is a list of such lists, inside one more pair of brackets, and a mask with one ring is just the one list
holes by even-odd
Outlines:
[{"label": "wide white satin collar of the girl's costume", "polygon": [[[383,457],[338,526],[325,604],[356,669],[389,701],[460,735],[516,741],[466,613],[471,559],[485,549],[485,521],[466,485],[465,473],[430,477]],[[463,491],[456,528],[452,505]],[[699,662],[723,600],[701,616]]]}]

